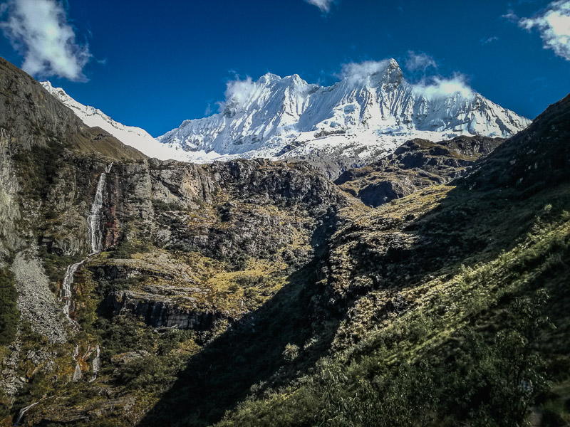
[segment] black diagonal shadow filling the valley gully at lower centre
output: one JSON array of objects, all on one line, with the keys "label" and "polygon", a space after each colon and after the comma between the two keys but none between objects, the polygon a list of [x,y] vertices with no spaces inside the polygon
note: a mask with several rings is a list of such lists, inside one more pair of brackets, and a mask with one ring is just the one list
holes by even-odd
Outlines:
[{"label": "black diagonal shadow filling the valley gully at lower centre", "polygon": [[[255,312],[242,318],[190,359],[172,388],[162,396],[140,426],[207,426],[242,401],[255,384],[283,384],[306,370],[330,345],[340,317],[326,330],[314,330],[308,316],[316,269],[326,243],[336,232],[335,214],[325,218],[311,238],[313,260],[295,271],[279,292]],[[304,351],[306,342],[311,351]],[[286,346],[299,349],[292,361]]]}]

